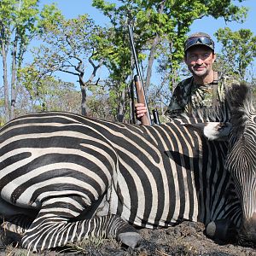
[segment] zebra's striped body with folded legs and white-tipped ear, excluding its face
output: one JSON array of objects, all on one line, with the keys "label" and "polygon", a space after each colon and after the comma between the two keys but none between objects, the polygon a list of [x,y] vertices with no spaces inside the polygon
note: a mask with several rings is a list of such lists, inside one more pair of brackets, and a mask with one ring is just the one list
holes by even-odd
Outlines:
[{"label": "zebra's striped body with folded legs and white-tipped ear, excluding its face", "polygon": [[235,187],[243,183],[224,168],[227,144],[214,141],[229,132],[230,125],[179,119],[153,126],[58,112],[14,119],[0,131],[2,227],[33,252],[89,236],[136,247],[136,227],[184,219],[206,224],[209,236],[221,233],[218,221],[238,229],[244,195]]}]

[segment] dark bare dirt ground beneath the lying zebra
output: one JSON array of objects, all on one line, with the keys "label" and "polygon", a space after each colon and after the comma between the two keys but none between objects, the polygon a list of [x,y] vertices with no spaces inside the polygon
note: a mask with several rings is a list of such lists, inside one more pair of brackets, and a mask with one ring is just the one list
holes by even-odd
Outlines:
[{"label": "dark bare dirt ground beneath the lying zebra", "polygon": [[26,250],[4,245],[9,238],[3,239],[0,255],[91,255],[91,256],[168,256],[168,255],[255,255],[256,249],[241,247],[236,244],[219,245],[207,238],[203,233],[204,225],[183,222],[177,226],[161,230],[139,230],[143,236],[140,246],[131,249],[122,247],[119,242],[111,239],[91,238],[46,253],[29,253]]}]

